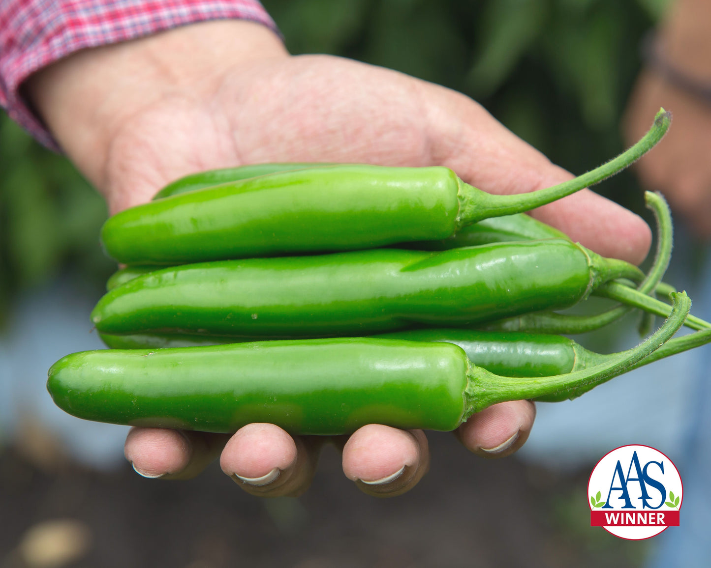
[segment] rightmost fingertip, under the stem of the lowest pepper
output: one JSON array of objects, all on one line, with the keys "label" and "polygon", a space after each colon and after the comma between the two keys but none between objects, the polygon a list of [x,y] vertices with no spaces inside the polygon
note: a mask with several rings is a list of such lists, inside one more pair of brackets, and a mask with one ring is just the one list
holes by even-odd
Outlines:
[{"label": "rightmost fingertip, under the stem of the lowest pepper", "polygon": [[529,400],[499,403],[471,416],[456,434],[470,452],[506,457],[523,446],[534,419],[535,405]]}]

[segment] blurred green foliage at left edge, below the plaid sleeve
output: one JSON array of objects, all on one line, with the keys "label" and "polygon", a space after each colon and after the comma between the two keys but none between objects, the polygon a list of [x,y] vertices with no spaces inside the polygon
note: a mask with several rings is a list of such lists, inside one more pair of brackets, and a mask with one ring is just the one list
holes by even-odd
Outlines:
[{"label": "blurred green foliage at left edge, below the plaid sleeve", "polygon": [[105,280],[115,268],[99,246],[106,214],[68,160],[0,114],[0,323],[18,293],[60,271]]}]

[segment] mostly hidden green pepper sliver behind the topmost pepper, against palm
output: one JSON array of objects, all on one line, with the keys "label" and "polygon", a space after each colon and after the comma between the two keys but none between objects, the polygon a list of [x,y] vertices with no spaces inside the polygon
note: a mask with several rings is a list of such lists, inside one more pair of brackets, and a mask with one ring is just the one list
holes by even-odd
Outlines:
[{"label": "mostly hidden green pepper sliver behind the topmost pepper, against palm", "polygon": [[291,172],[294,170],[305,170],[307,168],[320,168],[323,165],[336,165],[331,162],[283,162],[240,165],[237,168],[224,168],[222,170],[208,170],[201,173],[186,175],[174,182],[169,183],[153,196],[154,200],[164,197],[171,197],[193,190],[202,190],[205,187],[222,185],[223,183],[247,180],[249,178],[259,178],[262,175],[269,175],[278,172]]}]

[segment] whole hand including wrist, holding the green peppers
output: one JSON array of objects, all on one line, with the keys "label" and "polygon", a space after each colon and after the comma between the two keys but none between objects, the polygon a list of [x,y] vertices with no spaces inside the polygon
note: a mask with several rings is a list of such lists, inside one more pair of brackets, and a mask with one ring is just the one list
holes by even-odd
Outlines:
[{"label": "whole hand including wrist, holding the green peppers", "polygon": [[[182,175],[246,163],[445,165],[495,193],[572,177],[464,95],[350,60],[290,57],[271,31],[246,21],[85,50],[33,76],[28,92],[112,213]],[[639,217],[588,190],[534,215],[634,263],[651,240]],[[502,403],[457,435],[472,452],[503,457],[523,445],[534,417],[529,401]],[[346,476],[373,495],[404,493],[429,464],[421,431],[369,425],[334,441]],[[137,471],[165,478],[193,476],[221,454],[245,491],[294,496],[309,486],[323,442],[264,424],[232,437],[135,428],[125,453]]]}]

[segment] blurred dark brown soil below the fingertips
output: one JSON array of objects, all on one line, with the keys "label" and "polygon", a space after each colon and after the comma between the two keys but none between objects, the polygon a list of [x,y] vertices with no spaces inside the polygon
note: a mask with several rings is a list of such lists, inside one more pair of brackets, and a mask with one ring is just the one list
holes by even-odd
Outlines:
[{"label": "blurred dark brown soil below the fingertips", "polygon": [[[589,526],[587,476],[468,454],[429,434],[432,466],[410,493],[363,495],[326,447],[298,499],[249,496],[217,464],[192,481],[151,481],[33,464],[0,450],[0,568],[28,567],[26,531],[70,518],[89,546],[68,568],[637,567],[649,542]],[[591,464],[592,468],[592,464]]]}]

